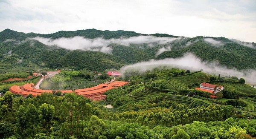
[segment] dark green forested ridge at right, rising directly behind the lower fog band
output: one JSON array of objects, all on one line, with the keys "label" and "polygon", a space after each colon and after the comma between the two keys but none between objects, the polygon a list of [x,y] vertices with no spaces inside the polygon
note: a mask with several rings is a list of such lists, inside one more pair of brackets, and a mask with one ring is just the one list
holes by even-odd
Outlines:
[{"label": "dark green forested ridge at right, rising directly behind the lower fog band", "polygon": [[232,41],[217,47],[205,42],[202,38],[187,47],[178,47],[173,48],[172,51],[165,51],[157,59],[183,57],[188,52],[195,54],[203,61],[218,61],[228,68],[256,68],[256,65],[253,64],[256,63],[255,48],[245,47]]}]

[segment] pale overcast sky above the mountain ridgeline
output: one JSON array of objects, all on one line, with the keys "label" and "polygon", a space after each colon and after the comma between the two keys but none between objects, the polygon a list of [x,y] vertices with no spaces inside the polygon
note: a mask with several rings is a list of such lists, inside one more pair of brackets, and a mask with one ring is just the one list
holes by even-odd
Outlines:
[{"label": "pale overcast sky above the mountain ridgeline", "polygon": [[256,0],[0,0],[0,31],[125,30],[256,42]]}]

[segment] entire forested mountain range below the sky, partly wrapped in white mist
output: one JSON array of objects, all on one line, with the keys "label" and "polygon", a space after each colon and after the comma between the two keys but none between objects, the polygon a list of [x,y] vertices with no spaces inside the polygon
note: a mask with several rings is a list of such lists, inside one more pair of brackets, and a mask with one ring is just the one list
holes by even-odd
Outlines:
[{"label": "entire forested mountain range below the sky, partly wrapped in white mist", "polygon": [[[90,42],[86,47],[70,50],[61,45],[46,45],[33,40],[34,37],[60,38],[83,37]],[[95,39],[98,42],[93,42]],[[103,40],[102,40],[103,39]],[[108,42],[107,44],[104,44]],[[54,43],[53,43],[54,44]],[[75,44],[74,44],[75,45]],[[99,47],[97,47],[99,45]],[[103,45],[103,46],[102,46]],[[102,49],[108,48],[107,54]],[[87,50],[87,51],[85,51]],[[93,50],[93,51],[91,51]],[[183,57],[190,52],[203,61],[218,61],[228,68],[256,68],[256,45],[224,37],[176,37],[168,34],[139,34],[134,31],[100,31],[96,29],[78,31],[58,31],[53,34],[21,33],[5,29],[0,32],[0,63],[4,65],[39,66],[48,68],[73,67],[103,71],[107,68],[120,68],[122,65],[147,61]],[[104,52],[104,51],[103,51]],[[104,66],[102,66],[104,65]],[[3,68],[3,67],[2,67]]]}]

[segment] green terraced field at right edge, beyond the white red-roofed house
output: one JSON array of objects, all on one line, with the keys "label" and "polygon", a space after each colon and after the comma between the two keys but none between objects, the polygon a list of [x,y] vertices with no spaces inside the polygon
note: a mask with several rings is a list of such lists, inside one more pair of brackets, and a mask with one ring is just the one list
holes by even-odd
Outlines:
[{"label": "green terraced field at right edge, beyond the white red-roofed house", "polygon": [[234,91],[239,91],[245,94],[256,94],[256,89],[251,87],[250,85],[246,85],[244,83],[219,83],[220,85],[224,86],[224,88]]}]

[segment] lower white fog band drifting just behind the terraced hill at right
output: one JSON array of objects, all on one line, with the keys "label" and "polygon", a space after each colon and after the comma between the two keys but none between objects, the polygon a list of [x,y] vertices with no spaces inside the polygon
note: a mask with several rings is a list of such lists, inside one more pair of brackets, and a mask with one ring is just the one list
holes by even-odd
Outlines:
[{"label": "lower white fog band drifting just behind the terraced hill at right", "polygon": [[221,76],[236,76],[244,78],[247,83],[256,84],[256,71],[255,70],[244,70],[239,71],[237,69],[230,69],[219,65],[217,62],[204,62],[192,53],[184,54],[181,58],[166,58],[163,60],[150,60],[147,62],[139,62],[132,65],[126,65],[120,69],[121,73],[125,73],[126,70],[132,69],[140,72],[152,70],[160,66],[167,66],[170,68],[180,68],[190,71],[200,71],[203,69],[204,72],[209,74],[221,74]]}]

